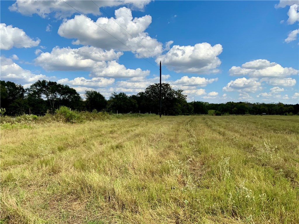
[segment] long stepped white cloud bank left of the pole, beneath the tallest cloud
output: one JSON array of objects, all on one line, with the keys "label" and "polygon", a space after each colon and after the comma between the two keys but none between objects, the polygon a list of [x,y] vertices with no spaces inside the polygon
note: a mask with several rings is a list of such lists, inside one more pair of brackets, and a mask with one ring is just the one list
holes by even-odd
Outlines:
[{"label": "long stepped white cloud bank left of the pole, beneath the tallest cloud", "polygon": [[122,54],[116,53],[113,49],[105,51],[88,46],[75,49],[54,47],[51,53],[41,53],[35,62],[47,71],[89,71],[90,76],[94,77],[145,77],[149,74],[149,70],[126,69],[124,65],[113,60],[118,59]]}]

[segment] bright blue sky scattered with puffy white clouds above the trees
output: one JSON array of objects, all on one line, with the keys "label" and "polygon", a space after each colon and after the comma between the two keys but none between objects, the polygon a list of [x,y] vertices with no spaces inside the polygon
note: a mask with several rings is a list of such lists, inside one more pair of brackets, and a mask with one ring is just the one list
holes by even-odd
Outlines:
[{"label": "bright blue sky scattered with puffy white clouds above the trees", "polygon": [[298,102],[299,1],[0,1],[1,80],[187,101]]}]

